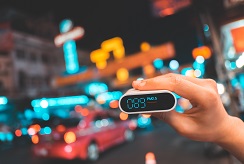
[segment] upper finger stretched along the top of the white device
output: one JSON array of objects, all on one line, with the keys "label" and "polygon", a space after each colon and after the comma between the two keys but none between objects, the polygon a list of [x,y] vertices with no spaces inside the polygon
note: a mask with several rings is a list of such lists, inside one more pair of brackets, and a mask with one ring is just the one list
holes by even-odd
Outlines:
[{"label": "upper finger stretched along the top of the white device", "polygon": [[205,88],[198,85],[200,83],[202,82],[197,79],[187,80],[187,78],[183,76],[171,74],[167,76],[158,76],[147,80],[134,81],[132,85],[138,90],[170,90],[194,102],[201,101],[202,96],[205,93]]}]

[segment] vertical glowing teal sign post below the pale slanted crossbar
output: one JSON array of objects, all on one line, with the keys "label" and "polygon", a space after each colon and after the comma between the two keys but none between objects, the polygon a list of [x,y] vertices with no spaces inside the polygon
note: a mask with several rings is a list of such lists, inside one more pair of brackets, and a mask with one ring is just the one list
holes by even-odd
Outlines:
[{"label": "vertical glowing teal sign post below the pale slanted crossbar", "polygon": [[79,71],[79,62],[75,41],[69,40],[65,42],[63,45],[63,50],[67,73],[77,73]]}]

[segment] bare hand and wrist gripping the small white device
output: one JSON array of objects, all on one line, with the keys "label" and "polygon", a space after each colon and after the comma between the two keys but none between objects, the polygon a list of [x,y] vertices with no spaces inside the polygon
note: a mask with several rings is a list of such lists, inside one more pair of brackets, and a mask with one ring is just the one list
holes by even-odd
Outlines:
[{"label": "bare hand and wrist gripping the small white device", "polygon": [[182,136],[222,146],[244,163],[244,123],[226,112],[214,80],[170,73],[133,81],[132,86],[138,90],[170,90],[188,99],[192,108],[184,113],[172,110],[152,115]]}]

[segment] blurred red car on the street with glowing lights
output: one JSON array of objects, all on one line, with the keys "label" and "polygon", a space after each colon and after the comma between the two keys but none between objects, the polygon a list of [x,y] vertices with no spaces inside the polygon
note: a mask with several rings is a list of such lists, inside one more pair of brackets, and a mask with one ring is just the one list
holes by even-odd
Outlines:
[{"label": "blurred red car on the street with glowing lights", "polygon": [[62,119],[52,130],[42,128],[32,136],[32,150],[37,157],[95,161],[100,152],[133,141],[135,128],[133,121],[121,121],[108,111],[89,111],[85,117]]}]

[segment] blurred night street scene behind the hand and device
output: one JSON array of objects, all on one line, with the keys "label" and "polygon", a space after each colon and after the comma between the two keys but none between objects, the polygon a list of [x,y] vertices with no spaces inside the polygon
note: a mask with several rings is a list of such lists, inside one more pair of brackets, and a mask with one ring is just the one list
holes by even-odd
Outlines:
[{"label": "blurred night street scene behind the hand and device", "polygon": [[170,72],[214,79],[243,120],[244,1],[1,0],[0,163],[239,163],[121,113],[133,80]]}]

